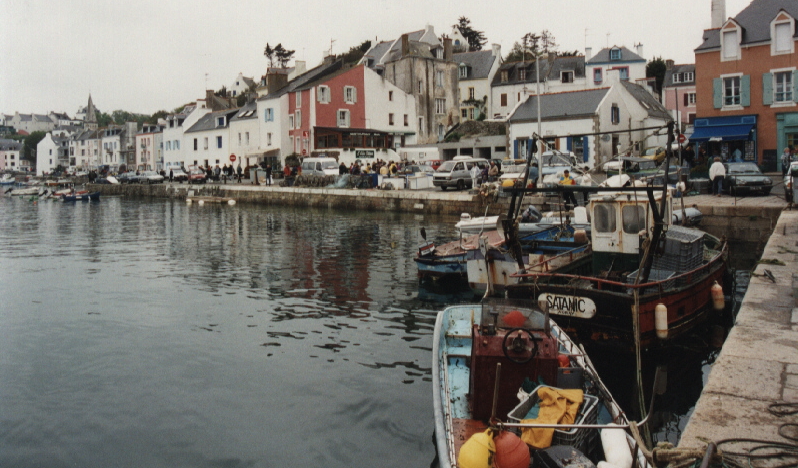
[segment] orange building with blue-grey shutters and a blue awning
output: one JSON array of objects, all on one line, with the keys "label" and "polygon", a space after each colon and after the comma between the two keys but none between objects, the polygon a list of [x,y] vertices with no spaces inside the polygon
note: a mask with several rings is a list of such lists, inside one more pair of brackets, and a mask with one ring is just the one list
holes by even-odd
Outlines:
[{"label": "orange building with blue-grey shutters and a blue awning", "polygon": [[704,31],[695,49],[690,139],[707,156],[756,161],[775,171],[782,150],[798,148],[797,18],[795,0],[753,0]]}]

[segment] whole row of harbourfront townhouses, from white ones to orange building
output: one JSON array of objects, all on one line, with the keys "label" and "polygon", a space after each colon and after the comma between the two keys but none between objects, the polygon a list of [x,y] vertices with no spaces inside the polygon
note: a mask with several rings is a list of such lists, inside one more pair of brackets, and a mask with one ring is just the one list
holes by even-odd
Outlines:
[{"label": "whole row of harbourfront townhouses, from white ones to orange building", "polygon": [[[741,152],[775,165],[779,148],[798,140],[797,9],[790,0],[754,0],[725,18],[723,0],[713,0],[696,63],[668,61],[661,95],[646,77],[642,45],[502,63],[498,45],[465,52],[457,30],[438,37],[427,26],[373,44],[356,64],[328,58],[308,70],[298,61],[268,69],[259,85],[239,74],[228,88],[233,98],[206,91],[158,125],[53,132],[37,171],[279,165],[292,154],[346,164],[521,158],[535,134],[595,166],[664,146],[656,129],[670,120],[707,155]],[[236,107],[235,97],[253,88]]]}]

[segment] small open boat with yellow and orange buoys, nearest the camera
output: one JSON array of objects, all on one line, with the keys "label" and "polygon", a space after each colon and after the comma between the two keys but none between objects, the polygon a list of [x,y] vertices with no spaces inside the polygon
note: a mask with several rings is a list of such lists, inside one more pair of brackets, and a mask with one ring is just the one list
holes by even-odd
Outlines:
[{"label": "small open boat with yellow and orange buoys, nearest the camera", "polygon": [[[638,425],[545,309],[511,300],[447,307],[432,354],[440,467],[651,466],[633,437]],[[551,402],[566,410],[544,410]]]}]

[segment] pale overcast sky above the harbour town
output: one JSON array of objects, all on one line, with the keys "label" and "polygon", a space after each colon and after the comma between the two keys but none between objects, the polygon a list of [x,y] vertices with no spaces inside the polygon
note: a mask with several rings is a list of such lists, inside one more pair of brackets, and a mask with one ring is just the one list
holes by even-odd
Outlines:
[{"label": "pale overcast sky above the harbour town", "polygon": [[[308,68],[324,51],[451,31],[460,16],[506,55],[548,29],[560,50],[643,44],[653,57],[693,63],[711,0],[0,0],[0,113],[66,112],[91,93],[103,112],[151,114],[266,72],[263,49],[282,43]],[[726,0],[733,17],[750,0]],[[331,41],[334,41],[331,43]],[[634,49],[632,49],[634,50]],[[292,62],[293,63],[293,62]]]}]

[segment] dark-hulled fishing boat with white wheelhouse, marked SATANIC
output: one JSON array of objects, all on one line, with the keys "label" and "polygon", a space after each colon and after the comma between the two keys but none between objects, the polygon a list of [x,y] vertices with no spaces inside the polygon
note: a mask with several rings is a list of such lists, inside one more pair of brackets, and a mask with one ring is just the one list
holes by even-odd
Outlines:
[{"label": "dark-hulled fishing boat with white wheelhouse, marked SATANIC", "polygon": [[[591,253],[552,271],[518,273],[507,297],[546,302],[579,339],[635,347],[664,344],[724,308],[728,245],[671,223],[675,189],[663,183],[591,190]],[[508,231],[513,245],[509,223]]]}]

